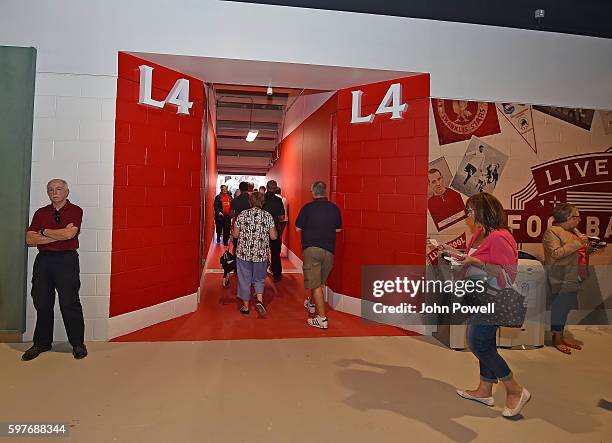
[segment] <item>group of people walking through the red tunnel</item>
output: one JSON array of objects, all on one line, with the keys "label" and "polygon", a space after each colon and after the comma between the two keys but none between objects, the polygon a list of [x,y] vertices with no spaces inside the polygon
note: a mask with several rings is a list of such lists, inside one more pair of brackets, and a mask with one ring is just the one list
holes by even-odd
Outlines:
[{"label": "group of people walking through the red tunnel", "polygon": [[[339,208],[327,199],[324,182],[314,182],[311,191],[313,200],[300,209],[295,221],[296,231],[302,231],[304,286],[310,290],[304,308],[314,315],[308,318],[309,325],[327,329],[323,286],[333,266],[336,233],[342,228],[342,219]],[[253,288],[257,314],[265,317],[263,295],[268,267],[274,282],[282,279],[282,236],[289,221],[288,203],[275,180],[258,191],[252,183],[241,182],[236,193],[230,196],[222,185],[215,197],[217,242],[223,237],[223,245],[231,249],[232,237],[240,313],[250,315]],[[224,287],[229,285],[233,268],[224,266]]]}]

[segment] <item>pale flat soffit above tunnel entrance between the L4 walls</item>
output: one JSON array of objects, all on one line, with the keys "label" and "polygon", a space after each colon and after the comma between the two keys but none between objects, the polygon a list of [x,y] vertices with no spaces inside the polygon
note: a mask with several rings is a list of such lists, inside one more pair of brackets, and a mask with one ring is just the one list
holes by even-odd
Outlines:
[{"label": "pale flat soffit above tunnel entrance between the L4 walls", "polygon": [[229,58],[131,52],[137,57],[175,69],[206,83],[319,89],[335,91],[352,86],[415,75],[413,72],[340,66],[306,65]]}]

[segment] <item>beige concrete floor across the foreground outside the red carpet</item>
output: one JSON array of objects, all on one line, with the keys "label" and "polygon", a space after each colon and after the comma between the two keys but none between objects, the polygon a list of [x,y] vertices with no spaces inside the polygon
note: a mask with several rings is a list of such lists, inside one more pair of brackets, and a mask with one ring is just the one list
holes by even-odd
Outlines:
[{"label": "beige concrete floor across the foreground outside the red carpet", "polygon": [[501,387],[494,408],[458,398],[476,359],[430,337],[90,343],[81,361],[58,345],[31,362],[0,344],[0,422],[65,422],[87,443],[612,442],[612,330],[574,336],[572,356],[502,351],[533,394],[518,421]]}]

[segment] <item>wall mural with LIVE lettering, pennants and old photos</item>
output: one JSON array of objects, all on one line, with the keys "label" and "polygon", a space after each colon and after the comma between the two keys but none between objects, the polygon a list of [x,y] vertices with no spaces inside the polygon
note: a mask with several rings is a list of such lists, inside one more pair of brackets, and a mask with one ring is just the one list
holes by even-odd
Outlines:
[{"label": "wall mural with LIVE lettering, pennants and old photos", "polygon": [[[484,191],[501,200],[517,242],[534,255],[542,255],[542,235],[560,202],[580,208],[582,232],[612,242],[612,111],[431,101],[430,238],[469,238],[460,206]],[[593,259],[612,263],[610,250]]]}]

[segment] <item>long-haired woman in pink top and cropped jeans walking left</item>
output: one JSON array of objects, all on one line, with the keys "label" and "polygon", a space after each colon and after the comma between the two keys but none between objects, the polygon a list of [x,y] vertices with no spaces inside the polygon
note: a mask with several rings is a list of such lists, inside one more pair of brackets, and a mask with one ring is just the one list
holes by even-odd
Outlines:
[{"label": "long-haired woman in pink top and cropped jeans walking left", "polygon": [[[489,283],[503,288],[504,272],[510,280],[516,277],[518,250],[516,241],[508,228],[506,213],[502,204],[486,192],[475,194],[466,202],[466,211],[476,226],[476,232],[468,244],[468,255],[462,263],[468,275],[480,274],[489,277]],[[512,375],[506,361],[497,352],[498,325],[487,324],[482,318],[472,317],[468,321],[468,344],[480,363],[480,384],[471,391],[458,390],[457,394],[468,400],[475,400],[493,406],[493,385],[499,381],[506,388],[504,417],[513,417],[531,398]]]}]

